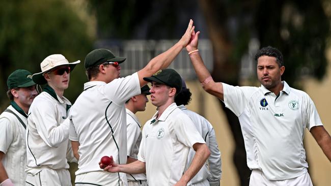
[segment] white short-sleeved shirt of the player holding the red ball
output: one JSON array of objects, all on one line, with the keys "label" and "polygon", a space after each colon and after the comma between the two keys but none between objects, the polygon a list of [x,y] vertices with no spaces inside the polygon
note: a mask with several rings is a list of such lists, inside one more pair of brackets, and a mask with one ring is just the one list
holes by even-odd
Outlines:
[{"label": "white short-sleeved shirt of the player holding the red ball", "polygon": [[184,173],[189,149],[206,142],[176,103],[155,120],[157,114],[144,126],[138,160],[146,163],[148,185],[174,185]]}]

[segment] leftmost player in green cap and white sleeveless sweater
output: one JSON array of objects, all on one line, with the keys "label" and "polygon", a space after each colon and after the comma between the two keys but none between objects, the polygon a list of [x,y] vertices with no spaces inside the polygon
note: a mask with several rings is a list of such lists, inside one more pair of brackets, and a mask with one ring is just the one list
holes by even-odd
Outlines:
[{"label": "leftmost player in green cap and white sleeveless sweater", "polygon": [[27,111],[37,94],[31,72],[18,69],[7,79],[10,106],[0,115],[0,185],[25,184]]}]

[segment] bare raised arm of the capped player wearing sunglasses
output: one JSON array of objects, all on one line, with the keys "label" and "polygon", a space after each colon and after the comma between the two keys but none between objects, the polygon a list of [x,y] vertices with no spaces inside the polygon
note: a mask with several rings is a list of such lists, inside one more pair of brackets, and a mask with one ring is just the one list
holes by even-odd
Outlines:
[{"label": "bare raised arm of the capped player wearing sunglasses", "polygon": [[143,79],[144,77],[149,77],[149,76],[153,75],[155,72],[157,72],[158,70],[165,69],[171,64],[171,62],[175,59],[175,57],[188,44],[188,42],[191,38],[191,34],[194,31],[194,28],[195,27],[193,26],[193,21],[190,19],[186,32],[182,36],[182,38],[170,49],[157,55],[152,60],[150,60],[145,68],[138,71],[140,86],[147,84],[147,82],[144,81],[144,79]]}]

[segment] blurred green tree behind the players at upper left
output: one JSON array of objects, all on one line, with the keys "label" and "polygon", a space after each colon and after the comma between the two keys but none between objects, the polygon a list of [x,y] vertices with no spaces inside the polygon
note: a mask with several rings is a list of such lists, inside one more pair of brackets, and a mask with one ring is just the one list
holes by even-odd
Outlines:
[{"label": "blurred green tree behind the players at upper left", "polygon": [[[80,59],[92,49],[91,17],[61,0],[4,1],[0,7],[0,108],[8,105],[8,75],[16,69],[40,72],[41,61],[60,53],[69,61]],[[92,25],[94,26],[94,25]],[[84,65],[76,66],[65,96],[72,102],[87,81]]]}]

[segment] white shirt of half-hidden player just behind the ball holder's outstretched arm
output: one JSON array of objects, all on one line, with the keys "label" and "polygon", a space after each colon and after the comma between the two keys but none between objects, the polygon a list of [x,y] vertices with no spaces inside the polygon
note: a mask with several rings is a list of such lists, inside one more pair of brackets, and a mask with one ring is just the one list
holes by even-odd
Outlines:
[{"label": "white shirt of half-hidden player just behind the ball holder's outstretched arm", "polygon": [[[140,142],[142,141],[141,123],[137,116],[129,109],[126,110],[126,131],[127,131],[127,156],[138,159]],[[146,174],[126,174],[128,181],[144,180]]]}]

